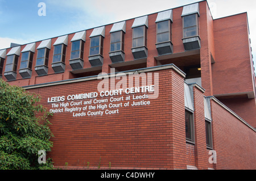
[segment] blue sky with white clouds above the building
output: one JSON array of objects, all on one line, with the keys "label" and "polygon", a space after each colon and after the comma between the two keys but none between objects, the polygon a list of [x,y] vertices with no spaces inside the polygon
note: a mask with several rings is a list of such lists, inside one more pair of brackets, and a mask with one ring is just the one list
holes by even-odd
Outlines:
[{"label": "blue sky with white clouds above the building", "polygon": [[[0,49],[9,48],[10,43],[32,43],[194,2],[199,0],[0,0]],[[208,0],[208,4],[213,19],[247,12],[256,57],[256,1]]]}]

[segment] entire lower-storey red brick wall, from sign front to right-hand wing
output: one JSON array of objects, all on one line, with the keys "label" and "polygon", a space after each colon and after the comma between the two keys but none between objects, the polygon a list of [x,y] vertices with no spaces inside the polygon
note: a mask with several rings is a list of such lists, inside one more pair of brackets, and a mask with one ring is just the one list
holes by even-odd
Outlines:
[{"label": "entire lower-storey red brick wall, from sign front to right-hand wing", "polygon": [[[113,169],[187,169],[187,166],[197,169],[256,168],[255,158],[251,157],[255,154],[255,131],[214,100],[211,101],[211,111],[213,150],[217,151],[217,163],[208,162],[210,155],[205,142],[203,91],[196,86],[193,87],[195,144],[186,143],[183,77],[173,69],[152,73],[159,73],[159,84],[154,82],[159,85],[159,97],[145,99],[150,100],[150,105],[121,107],[117,114],[102,116],[73,117],[69,112],[55,113],[51,119],[55,137],[52,138],[52,151],[48,154],[55,167],[68,163],[71,169],[88,169],[89,162],[89,169],[97,169],[98,164],[101,168],[108,168],[111,162]],[[47,98],[97,92],[98,82],[100,80],[94,79],[28,91],[40,94],[41,103],[50,109],[52,104],[47,103]],[[125,98],[127,95],[122,96]],[[124,104],[127,101],[121,102]],[[68,108],[71,107],[69,105]]]}]

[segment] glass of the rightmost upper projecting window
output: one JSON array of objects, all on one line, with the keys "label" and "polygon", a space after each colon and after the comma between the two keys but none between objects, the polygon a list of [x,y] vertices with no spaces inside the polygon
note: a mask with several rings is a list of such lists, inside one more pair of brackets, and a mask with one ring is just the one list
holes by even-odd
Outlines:
[{"label": "glass of the rightmost upper projecting window", "polygon": [[183,37],[198,35],[198,27],[197,14],[183,16]]}]

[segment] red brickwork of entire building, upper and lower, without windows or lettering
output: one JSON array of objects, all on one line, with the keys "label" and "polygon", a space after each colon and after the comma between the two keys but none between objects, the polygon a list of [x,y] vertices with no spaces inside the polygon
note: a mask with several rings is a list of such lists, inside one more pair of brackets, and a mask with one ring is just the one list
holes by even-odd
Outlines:
[{"label": "red brickwork of entire building, upper and lower, without windows or lettering", "polygon": [[[248,158],[248,155],[255,154],[256,85],[247,14],[245,12],[213,19],[207,1],[200,1],[198,5],[200,48],[192,50],[184,48],[181,16],[184,7],[182,6],[172,9],[170,29],[173,52],[162,56],[158,55],[156,49],[156,18],[159,13],[156,12],[147,15],[146,58],[135,60],[131,51],[133,41],[131,27],[135,18],[125,20],[123,62],[113,64],[109,56],[110,30],[113,24],[104,26],[102,66],[92,67],[88,60],[90,35],[93,28],[86,30],[83,49],[84,64],[79,70],[73,70],[69,64],[71,40],[75,33],[68,34],[63,73],[55,73],[52,69],[53,44],[58,37],[51,38],[47,75],[39,76],[35,71],[38,54],[36,48],[42,41],[35,42],[30,78],[22,78],[19,74],[22,53],[18,59],[16,79],[13,81],[8,81],[3,75],[7,56],[1,57],[4,61],[2,74],[0,72],[2,78],[10,85],[22,86],[28,91],[40,94],[42,104],[49,110],[53,108],[51,103],[47,103],[48,98],[55,96],[67,98],[72,94],[97,92],[98,83],[101,82],[97,79],[97,75],[113,73],[112,68],[115,68],[116,73],[125,71],[128,74],[139,70],[139,73],[159,74],[159,82],[154,82],[155,85],[159,85],[159,97],[150,99],[150,105],[126,108],[123,105],[127,100],[122,100],[117,102],[122,103],[122,107],[118,108],[118,113],[116,111],[112,115],[73,116],[71,112],[55,113],[51,120],[53,124],[51,129],[55,134],[52,138],[54,146],[49,157],[53,158],[56,167],[63,167],[68,163],[73,169],[88,169],[88,162],[90,168],[97,167],[99,163],[101,166],[108,167],[111,162],[112,168],[122,169],[127,167],[255,169],[255,159]],[[24,47],[26,45],[20,45],[20,50]],[[5,50],[7,54],[11,48]],[[191,73],[192,69],[197,73]],[[199,82],[192,82],[189,85],[193,89],[195,109],[193,112],[195,142],[192,144],[186,142],[184,121],[184,81],[188,82],[191,74],[200,79]],[[112,88],[110,87],[109,90],[113,90]],[[204,96],[211,99],[213,150],[217,151],[217,163],[213,164],[208,162],[210,157],[208,153],[212,149],[205,145]],[[69,108],[72,107],[71,102],[68,102]],[[96,103],[90,104],[96,105]],[[89,104],[86,106],[89,107]],[[247,140],[242,141],[242,137],[246,137]],[[225,142],[223,142],[224,138]],[[230,150],[234,152],[229,153]]]}]

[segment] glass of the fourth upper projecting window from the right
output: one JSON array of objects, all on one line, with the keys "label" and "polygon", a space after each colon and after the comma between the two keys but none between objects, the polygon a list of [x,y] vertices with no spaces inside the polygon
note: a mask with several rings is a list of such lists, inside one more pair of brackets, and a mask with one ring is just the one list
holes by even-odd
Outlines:
[{"label": "glass of the fourth upper projecting window from the right", "polygon": [[111,33],[111,40],[110,40],[110,52],[123,50],[123,40],[124,40],[124,33],[123,31],[117,31]]}]

